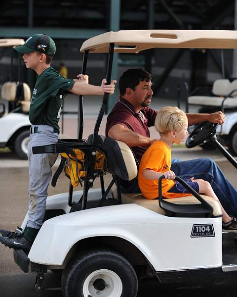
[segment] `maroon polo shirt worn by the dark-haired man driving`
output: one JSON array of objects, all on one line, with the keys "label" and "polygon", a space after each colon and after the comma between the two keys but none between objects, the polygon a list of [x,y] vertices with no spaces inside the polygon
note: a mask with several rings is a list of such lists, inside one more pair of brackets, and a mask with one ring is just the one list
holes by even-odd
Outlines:
[{"label": "maroon polo shirt worn by the dark-haired man driving", "polygon": [[[150,107],[143,107],[141,112],[145,116],[144,122],[141,120],[139,113],[135,112],[134,106],[124,98],[120,98],[107,117],[105,130],[106,136],[108,137],[111,127],[120,124],[126,126],[133,132],[145,137],[150,137],[150,131],[148,127],[154,126],[157,111]],[[131,149],[140,164],[142,155],[146,151],[147,147],[132,147]]]}]

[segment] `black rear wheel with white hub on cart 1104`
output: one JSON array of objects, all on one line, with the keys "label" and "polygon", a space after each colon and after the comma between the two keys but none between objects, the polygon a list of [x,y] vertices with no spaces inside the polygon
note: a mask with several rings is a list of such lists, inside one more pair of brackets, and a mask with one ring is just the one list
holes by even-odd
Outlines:
[{"label": "black rear wheel with white hub on cart 1104", "polygon": [[137,276],[126,258],[109,249],[90,250],[68,263],[63,297],[136,297]]}]

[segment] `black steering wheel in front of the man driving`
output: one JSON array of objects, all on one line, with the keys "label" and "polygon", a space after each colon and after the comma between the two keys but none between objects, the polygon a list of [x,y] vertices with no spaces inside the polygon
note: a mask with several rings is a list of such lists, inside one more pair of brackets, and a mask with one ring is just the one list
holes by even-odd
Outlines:
[{"label": "black steering wheel in front of the man driving", "polygon": [[187,138],[186,148],[194,148],[203,142],[208,142],[215,135],[218,125],[208,121],[200,123]]}]

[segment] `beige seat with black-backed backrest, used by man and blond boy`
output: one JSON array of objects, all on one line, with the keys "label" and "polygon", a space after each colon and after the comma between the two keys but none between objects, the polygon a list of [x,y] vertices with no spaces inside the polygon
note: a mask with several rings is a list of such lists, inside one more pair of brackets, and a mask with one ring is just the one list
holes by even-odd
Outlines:
[{"label": "beige seat with black-backed backrest, used by man and blond boy", "polygon": [[[103,141],[103,148],[106,151],[108,170],[112,175],[116,175],[124,180],[132,180],[137,176],[137,165],[131,149],[121,141],[115,141],[108,137],[100,136]],[[112,189],[112,195],[118,199],[118,189]],[[213,217],[222,216],[220,204],[211,197],[201,195],[213,208]],[[194,196],[169,198],[165,201],[174,204],[200,204]],[[136,203],[160,214],[167,215],[164,209],[159,206],[158,199],[146,199],[142,194],[121,193],[122,204]]]}]

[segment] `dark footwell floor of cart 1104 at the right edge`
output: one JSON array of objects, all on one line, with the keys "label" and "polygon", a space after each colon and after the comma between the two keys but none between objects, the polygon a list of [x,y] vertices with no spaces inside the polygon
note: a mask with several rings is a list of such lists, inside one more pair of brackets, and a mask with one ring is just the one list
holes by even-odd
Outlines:
[{"label": "dark footwell floor of cart 1104 at the right edge", "polygon": [[237,242],[234,238],[237,233],[226,232],[222,233],[222,249],[223,249],[223,265],[237,265]]}]

